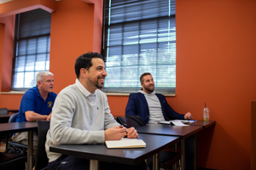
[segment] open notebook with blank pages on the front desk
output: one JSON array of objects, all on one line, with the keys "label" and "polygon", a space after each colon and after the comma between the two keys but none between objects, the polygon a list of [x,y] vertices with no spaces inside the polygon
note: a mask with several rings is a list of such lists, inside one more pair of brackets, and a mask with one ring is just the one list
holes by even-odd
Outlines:
[{"label": "open notebook with blank pages on the front desk", "polygon": [[146,143],[142,139],[107,140],[105,144],[108,148],[144,148]]}]

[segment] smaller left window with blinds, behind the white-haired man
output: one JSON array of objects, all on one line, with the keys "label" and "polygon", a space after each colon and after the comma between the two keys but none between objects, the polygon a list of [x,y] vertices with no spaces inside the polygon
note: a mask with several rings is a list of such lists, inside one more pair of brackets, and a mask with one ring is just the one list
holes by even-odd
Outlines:
[{"label": "smaller left window with blinds, behind the white-haired man", "polygon": [[12,90],[36,85],[39,71],[49,71],[51,14],[41,8],[16,14]]}]

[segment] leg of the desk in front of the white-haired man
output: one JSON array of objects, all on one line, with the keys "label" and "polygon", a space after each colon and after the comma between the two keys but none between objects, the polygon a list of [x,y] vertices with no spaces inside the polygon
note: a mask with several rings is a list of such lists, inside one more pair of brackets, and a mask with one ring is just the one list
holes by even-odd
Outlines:
[{"label": "leg of the desk in front of the white-haired man", "polygon": [[33,131],[28,132],[28,143],[27,143],[27,169],[32,170],[33,163]]}]

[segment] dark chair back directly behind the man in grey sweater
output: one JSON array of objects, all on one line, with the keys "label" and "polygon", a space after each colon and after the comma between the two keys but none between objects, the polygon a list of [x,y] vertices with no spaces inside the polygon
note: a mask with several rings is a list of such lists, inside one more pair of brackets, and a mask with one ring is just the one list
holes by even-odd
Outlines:
[{"label": "dark chair back directly behind the man in grey sweater", "polygon": [[35,170],[46,169],[48,157],[45,151],[46,134],[49,130],[49,121],[38,121],[38,150]]}]

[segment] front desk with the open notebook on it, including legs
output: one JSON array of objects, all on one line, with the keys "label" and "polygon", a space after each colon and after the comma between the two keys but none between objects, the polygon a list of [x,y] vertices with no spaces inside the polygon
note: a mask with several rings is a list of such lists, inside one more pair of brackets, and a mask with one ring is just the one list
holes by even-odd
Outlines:
[{"label": "front desk with the open notebook on it, including legs", "polygon": [[180,141],[178,137],[139,134],[139,139],[146,143],[145,148],[108,149],[105,144],[60,144],[50,146],[49,151],[90,159],[90,170],[99,168],[99,161],[112,161],[136,165],[149,156],[154,156],[155,167],[158,167],[157,155]]}]

